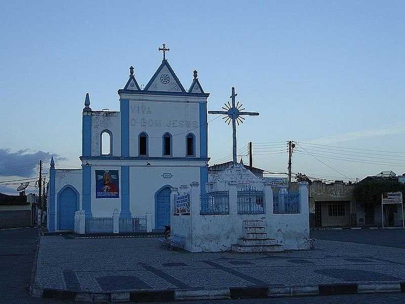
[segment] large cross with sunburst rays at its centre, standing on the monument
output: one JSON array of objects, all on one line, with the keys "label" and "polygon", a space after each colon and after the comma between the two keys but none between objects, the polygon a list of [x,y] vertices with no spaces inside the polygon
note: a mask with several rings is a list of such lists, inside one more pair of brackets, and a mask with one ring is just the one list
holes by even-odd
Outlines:
[{"label": "large cross with sunburst rays at its centre, standing on the monument", "polygon": [[232,98],[232,105],[228,102],[225,102],[224,106],[222,107],[225,111],[208,111],[209,114],[222,114],[226,115],[222,119],[225,119],[225,123],[228,125],[232,122],[232,143],[233,143],[233,163],[236,163],[236,124],[239,126],[239,122],[243,123],[245,118],[242,115],[249,115],[249,116],[258,116],[258,112],[242,112],[245,108],[242,108],[242,103],[239,104],[239,101],[235,105],[235,88],[232,87],[232,95],[229,98]]}]

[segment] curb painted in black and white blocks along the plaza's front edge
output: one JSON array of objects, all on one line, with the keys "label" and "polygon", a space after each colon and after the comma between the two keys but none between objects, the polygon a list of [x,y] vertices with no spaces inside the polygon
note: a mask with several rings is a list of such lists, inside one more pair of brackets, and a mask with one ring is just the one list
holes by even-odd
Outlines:
[{"label": "curb painted in black and white blocks along the plaza's front edge", "polygon": [[[31,284],[34,284],[32,278]],[[286,287],[250,286],[224,289],[166,289],[123,292],[74,292],[57,289],[41,289],[39,287],[33,287],[33,285],[30,286],[30,293],[33,297],[85,302],[244,299],[379,292],[405,292],[405,282],[321,284]]]}]

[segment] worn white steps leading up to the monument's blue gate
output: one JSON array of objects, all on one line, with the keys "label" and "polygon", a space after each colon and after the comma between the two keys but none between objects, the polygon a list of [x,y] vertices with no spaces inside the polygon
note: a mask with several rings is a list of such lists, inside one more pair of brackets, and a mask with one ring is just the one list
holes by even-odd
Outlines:
[{"label": "worn white steps leading up to the monument's blue gate", "polygon": [[244,220],[243,228],[244,236],[237,240],[237,244],[232,244],[232,251],[275,252],[284,250],[283,245],[276,244],[275,239],[268,238],[263,220]]}]

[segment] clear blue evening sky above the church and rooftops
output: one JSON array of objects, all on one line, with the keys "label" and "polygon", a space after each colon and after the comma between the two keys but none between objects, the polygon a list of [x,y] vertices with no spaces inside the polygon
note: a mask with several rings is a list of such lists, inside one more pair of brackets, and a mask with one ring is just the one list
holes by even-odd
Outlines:
[{"label": "clear blue evening sky above the church and rooftops", "polygon": [[[129,66],[146,85],[163,42],[185,88],[198,70],[208,109],[234,86],[260,112],[237,128],[239,155],[252,141],[255,167],[287,172],[294,140],[293,172],[400,175],[404,10],[401,1],[1,2],[0,192],[17,194],[4,181],[34,177],[39,159],[48,172],[51,155],[57,168],[79,167],[86,93],[93,109],[118,110]],[[231,140],[223,120],[209,123],[211,163],[231,160]]]}]

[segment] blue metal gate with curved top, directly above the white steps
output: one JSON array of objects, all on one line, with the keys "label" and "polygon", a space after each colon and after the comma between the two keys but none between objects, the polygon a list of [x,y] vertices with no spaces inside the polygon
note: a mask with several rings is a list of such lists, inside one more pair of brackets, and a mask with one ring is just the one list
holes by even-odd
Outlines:
[{"label": "blue metal gate with curved top, directly above the white steps", "polygon": [[263,191],[245,186],[237,191],[237,214],[264,214]]}]

